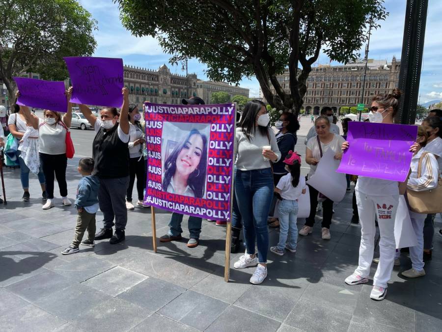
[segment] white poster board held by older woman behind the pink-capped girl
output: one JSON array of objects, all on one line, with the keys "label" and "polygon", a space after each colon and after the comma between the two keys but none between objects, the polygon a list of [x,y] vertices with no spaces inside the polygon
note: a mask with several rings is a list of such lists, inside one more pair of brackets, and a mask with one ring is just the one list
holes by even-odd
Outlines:
[{"label": "white poster board held by older woman behind the pink-capped girl", "polygon": [[327,150],[323,154],[315,174],[307,180],[307,184],[310,184],[333,202],[338,203],[345,196],[347,180],[345,179],[345,174],[336,172],[340,161],[334,159],[335,154],[336,152],[332,149]]}]

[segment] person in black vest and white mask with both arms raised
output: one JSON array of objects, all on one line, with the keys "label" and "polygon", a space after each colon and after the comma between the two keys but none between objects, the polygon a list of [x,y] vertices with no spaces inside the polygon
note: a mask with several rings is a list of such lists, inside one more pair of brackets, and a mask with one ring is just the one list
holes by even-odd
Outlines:
[{"label": "person in black vest and white mask with both arms raised", "polygon": [[[96,135],[92,145],[95,169],[92,173],[100,179],[98,202],[103,212],[104,227],[95,240],[111,239],[115,244],[124,241],[127,224],[126,190],[129,185],[129,91],[122,89],[121,113],[114,107],[103,108],[100,118],[95,117],[86,105],[79,105],[84,117],[94,127]],[[119,119],[119,122],[118,122]],[[115,223],[113,222],[115,219]],[[115,233],[112,235],[112,226]]]}]

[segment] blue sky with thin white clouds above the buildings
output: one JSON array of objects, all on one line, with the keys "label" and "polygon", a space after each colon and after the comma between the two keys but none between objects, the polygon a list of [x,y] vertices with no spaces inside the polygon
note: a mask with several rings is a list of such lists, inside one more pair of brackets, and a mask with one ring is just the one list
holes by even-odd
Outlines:
[{"label": "blue sky with thin white clouds above the buildings", "polygon": [[[123,28],[119,20],[118,6],[112,0],[80,0],[80,3],[98,21],[95,37],[98,43],[94,56],[123,58],[125,64],[157,69],[163,63],[172,73],[183,75],[181,66],[172,67],[168,63],[169,55],[164,54],[157,40],[152,37],[137,38]],[[390,13],[382,27],[373,32],[370,40],[369,58],[391,60],[393,56],[401,57],[402,37],[405,22],[406,0],[386,0],[385,7]],[[442,1],[429,0],[427,26],[425,30],[424,58],[420,78],[421,103],[433,99],[442,99],[442,34],[441,34]],[[363,54],[363,50],[361,52]],[[321,54],[318,64],[330,63]],[[189,72],[198,78],[206,79],[205,65],[196,59],[189,60]],[[259,95],[259,84],[256,79],[243,79],[241,87],[250,89],[250,97]]]}]

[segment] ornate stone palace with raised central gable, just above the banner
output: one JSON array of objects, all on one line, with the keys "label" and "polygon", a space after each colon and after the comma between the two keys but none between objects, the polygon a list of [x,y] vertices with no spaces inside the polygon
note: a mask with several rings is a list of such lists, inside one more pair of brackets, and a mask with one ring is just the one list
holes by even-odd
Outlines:
[{"label": "ornate stone palace with raised central gable, just above the banner", "polygon": [[182,98],[196,95],[196,74],[186,76],[170,73],[166,64],[158,70],[124,66],[124,86],[129,89],[131,103],[145,100],[158,104],[181,104]]}]

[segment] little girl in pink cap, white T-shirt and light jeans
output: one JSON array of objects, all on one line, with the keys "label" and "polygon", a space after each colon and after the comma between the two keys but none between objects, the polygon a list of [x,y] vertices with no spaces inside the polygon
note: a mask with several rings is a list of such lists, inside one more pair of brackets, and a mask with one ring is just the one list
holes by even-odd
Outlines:
[{"label": "little girl in pink cap, white T-shirt and light jeans", "polygon": [[[284,175],[275,188],[276,196],[279,196],[279,242],[270,248],[276,255],[282,256],[285,249],[296,252],[298,241],[298,199],[305,194],[305,179],[301,177],[301,158],[293,151],[289,151],[283,161],[285,169],[289,172]],[[287,237],[289,241],[287,242]]]}]

